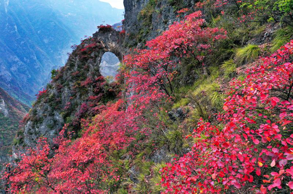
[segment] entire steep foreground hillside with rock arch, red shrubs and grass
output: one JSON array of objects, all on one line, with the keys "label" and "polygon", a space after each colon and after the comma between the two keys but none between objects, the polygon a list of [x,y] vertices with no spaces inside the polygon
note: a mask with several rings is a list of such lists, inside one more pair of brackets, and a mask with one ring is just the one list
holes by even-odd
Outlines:
[{"label": "entire steep foreground hillside with rock arch, red shrubs and grass", "polygon": [[292,2],[124,4],[123,30],[99,26],[39,93],[8,191],[291,193]]}]

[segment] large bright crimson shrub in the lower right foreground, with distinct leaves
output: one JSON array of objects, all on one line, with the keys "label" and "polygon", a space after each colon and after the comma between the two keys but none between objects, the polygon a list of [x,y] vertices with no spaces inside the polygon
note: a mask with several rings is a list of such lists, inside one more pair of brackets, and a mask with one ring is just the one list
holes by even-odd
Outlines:
[{"label": "large bright crimson shrub in the lower right foreground, with distinct leaves", "polygon": [[293,41],[231,81],[219,127],[198,123],[192,150],[162,170],[165,193],[293,189],[292,54]]}]

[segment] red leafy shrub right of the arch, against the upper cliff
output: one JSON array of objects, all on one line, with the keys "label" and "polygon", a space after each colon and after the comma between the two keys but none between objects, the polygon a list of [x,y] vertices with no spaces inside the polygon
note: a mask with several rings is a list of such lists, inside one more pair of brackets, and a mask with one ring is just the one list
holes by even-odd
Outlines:
[{"label": "red leafy shrub right of the arch, against the upper cliff", "polygon": [[178,61],[174,57],[193,56],[204,65],[204,56],[212,51],[212,43],[226,38],[226,31],[203,28],[205,20],[201,16],[200,11],[186,16],[169,26],[163,35],[148,41],[149,49],[134,50],[134,54],[125,56],[124,62],[132,70],[123,75],[130,85],[128,92],[139,93],[139,97],[160,90],[170,96],[174,90],[172,80],[177,74]]}]

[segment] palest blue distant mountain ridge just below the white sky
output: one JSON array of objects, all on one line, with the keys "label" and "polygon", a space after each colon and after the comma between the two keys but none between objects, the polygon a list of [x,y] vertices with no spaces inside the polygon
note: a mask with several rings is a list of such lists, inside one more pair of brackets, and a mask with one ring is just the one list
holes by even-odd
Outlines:
[{"label": "palest blue distant mountain ridge just below the white sky", "polygon": [[59,18],[79,37],[92,35],[97,26],[115,24],[124,18],[124,10],[99,0],[42,0],[58,11]]}]

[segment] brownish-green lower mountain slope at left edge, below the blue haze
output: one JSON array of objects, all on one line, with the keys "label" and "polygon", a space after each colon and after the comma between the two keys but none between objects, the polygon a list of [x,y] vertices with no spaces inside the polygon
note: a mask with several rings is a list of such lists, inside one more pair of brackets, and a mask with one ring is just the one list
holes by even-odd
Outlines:
[{"label": "brownish-green lower mountain slope at left edge, below the blue haze", "polygon": [[28,110],[28,106],[15,100],[0,88],[0,164],[5,162],[7,153],[11,151],[19,122]]}]

